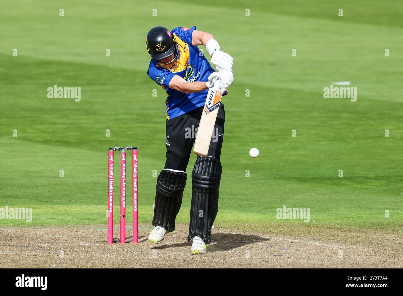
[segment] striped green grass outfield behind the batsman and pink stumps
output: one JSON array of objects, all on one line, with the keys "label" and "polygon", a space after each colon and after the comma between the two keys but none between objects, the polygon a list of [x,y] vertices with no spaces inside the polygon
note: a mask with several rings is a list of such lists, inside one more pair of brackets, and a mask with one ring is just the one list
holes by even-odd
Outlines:
[{"label": "striped green grass outfield behind the batsman and pink stumps", "polygon": [[[106,225],[107,150],[115,145],[139,148],[139,221],[152,220],[166,95],[146,75],[145,35],[157,25],[197,25],[234,58],[216,225],[401,231],[403,2],[324,2],[2,0],[0,207],[32,208],[33,220],[0,225]],[[357,101],[324,99],[331,81],[351,81]],[[48,99],[54,84],[81,87],[81,101]],[[249,157],[251,147],[258,158]],[[194,159],[177,218],[183,223]],[[310,208],[310,222],[276,219],[283,205]]]}]

